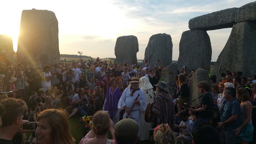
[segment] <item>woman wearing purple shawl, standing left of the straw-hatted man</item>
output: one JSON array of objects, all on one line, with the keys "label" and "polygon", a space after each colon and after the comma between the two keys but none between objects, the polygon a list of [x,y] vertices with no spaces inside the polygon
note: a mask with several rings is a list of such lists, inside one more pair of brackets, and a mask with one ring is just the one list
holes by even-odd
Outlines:
[{"label": "woman wearing purple shawl, standing left of the straw-hatted man", "polygon": [[110,80],[109,83],[111,87],[107,89],[107,92],[105,94],[105,102],[103,106],[103,110],[108,111],[108,115],[110,119],[112,119],[114,125],[119,121],[119,113],[117,112],[118,110],[117,105],[122,95],[120,89],[116,86],[116,82],[117,80],[115,77],[113,77]]}]

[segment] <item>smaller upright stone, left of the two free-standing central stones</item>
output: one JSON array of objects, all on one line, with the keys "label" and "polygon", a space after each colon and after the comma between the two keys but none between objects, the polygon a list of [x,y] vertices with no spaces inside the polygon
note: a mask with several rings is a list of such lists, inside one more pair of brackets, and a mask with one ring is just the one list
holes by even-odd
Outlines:
[{"label": "smaller upright stone, left of the two free-standing central stones", "polygon": [[114,63],[121,67],[124,62],[129,66],[137,64],[137,52],[139,52],[139,43],[136,36],[120,36],[116,39]]}]

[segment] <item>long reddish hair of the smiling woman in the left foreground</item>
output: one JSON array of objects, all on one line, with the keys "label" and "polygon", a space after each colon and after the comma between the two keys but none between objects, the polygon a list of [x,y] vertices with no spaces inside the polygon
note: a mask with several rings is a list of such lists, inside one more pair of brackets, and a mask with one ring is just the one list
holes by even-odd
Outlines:
[{"label": "long reddish hair of the smiling woman in the left foreground", "polygon": [[46,109],[37,116],[37,119],[38,121],[46,119],[51,126],[52,143],[75,144],[75,139],[69,130],[68,116],[62,110]]}]

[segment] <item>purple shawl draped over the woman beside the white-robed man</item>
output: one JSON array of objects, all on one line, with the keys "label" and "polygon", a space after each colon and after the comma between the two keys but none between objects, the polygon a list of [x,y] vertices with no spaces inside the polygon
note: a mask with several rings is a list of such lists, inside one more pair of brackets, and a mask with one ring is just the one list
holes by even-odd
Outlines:
[{"label": "purple shawl draped over the woman beside the white-robed man", "polygon": [[117,105],[118,105],[118,101],[121,98],[121,91],[118,87],[116,87],[116,89],[114,90],[114,92],[112,93],[112,107],[110,108],[110,95],[111,95],[111,87],[109,87],[107,89],[107,92],[105,94],[106,97],[106,108],[105,110],[107,111],[111,111],[111,116],[110,118],[113,119],[115,110],[117,109]]}]

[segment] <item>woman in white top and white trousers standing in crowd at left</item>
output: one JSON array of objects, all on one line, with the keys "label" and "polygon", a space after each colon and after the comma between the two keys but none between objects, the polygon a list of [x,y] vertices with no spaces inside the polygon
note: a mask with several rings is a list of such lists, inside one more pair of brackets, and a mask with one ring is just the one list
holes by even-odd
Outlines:
[{"label": "woman in white top and white trousers standing in crowd at left", "polygon": [[41,81],[42,88],[44,88],[44,91],[51,89],[51,79],[52,79],[52,73],[50,72],[50,67],[45,66],[42,71],[43,79]]}]

